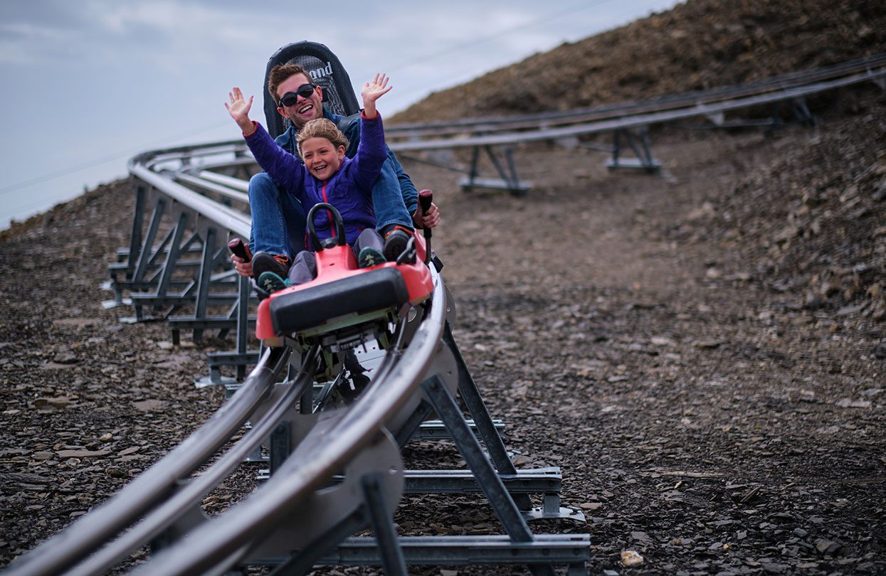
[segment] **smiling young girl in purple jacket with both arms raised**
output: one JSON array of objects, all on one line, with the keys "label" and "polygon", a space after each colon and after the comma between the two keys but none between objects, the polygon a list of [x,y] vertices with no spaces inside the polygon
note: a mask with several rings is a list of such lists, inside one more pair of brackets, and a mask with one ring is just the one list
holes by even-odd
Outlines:
[{"label": "smiling young girl in purple jacket with both arms raised", "polygon": [[[376,100],[391,90],[388,80],[385,74],[376,74],[361,90],[361,140],[354,158],[345,156],[345,134],[330,120],[315,119],[308,122],[298,135],[299,154],[304,160],[302,165],[298,158],[280,148],[258,122],[249,119],[253,96],[247,102],[240,88],[235,87],[229,94],[230,104],[225,104],[231,118],[243,130],[246,143],[261,169],[296,196],[306,212],[321,202],[338,209],[345,224],[347,243],[354,248],[361,267],[384,263],[383,252],[390,251],[385,250],[385,242],[375,229],[371,197],[373,184],[387,157]],[[327,211],[319,211],[315,230],[321,241],[335,235],[334,223]],[[253,257],[253,273],[260,288],[268,292],[284,288],[283,280],[273,273],[274,265],[265,267],[264,272],[271,272],[271,275],[262,273],[265,260],[272,261],[273,257],[261,252]],[[315,275],[314,254],[307,250],[299,252],[289,271],[291,283],[304,283]]]}]

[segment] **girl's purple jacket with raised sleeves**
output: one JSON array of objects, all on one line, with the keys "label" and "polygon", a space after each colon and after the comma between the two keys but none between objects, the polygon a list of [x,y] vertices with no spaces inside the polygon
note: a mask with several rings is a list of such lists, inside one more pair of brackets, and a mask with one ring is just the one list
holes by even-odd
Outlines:
[{"label": "girl's purple jacket with raised sleeves", "polygon": [[[376,215],[372,210],[372,187],[387,158],[385,130],[381,116],[365,119],[361,116],[360,145],[353,158],[345,157],[329,180],[317,180],[307,171],[299,158],[292,156],[271,139],[270,134],[258,122],[256,129],[246,137],[249,150],[270,177],[295,196],[305,209],[305,214],[315,204],[332,204],[345,221],[347,243],[354,245],[357,236],[365,228],[376,227]],[[320,240],[334,235],[329,211],[318,211],[315,230]]]}]

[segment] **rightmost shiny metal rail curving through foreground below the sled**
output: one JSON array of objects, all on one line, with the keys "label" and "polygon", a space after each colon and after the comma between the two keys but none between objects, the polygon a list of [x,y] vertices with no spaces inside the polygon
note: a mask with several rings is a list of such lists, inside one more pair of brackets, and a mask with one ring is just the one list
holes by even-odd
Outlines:
[{"label": "rightmost shiny metal rail curving through foreground below the sled", "polygon": [[[432,271],[433,272],[433,271]],[[434,274],[430,313],[384,381],[373,384],[330,426],[308,437],[284,465],[245,502],[199,526],[173,548],[162,551],[136,574],[192,574],[232,564],[286,520],[299,505],[344,469],[383,427],[395,426],[415,410],[418,385],[430,371],[446,321],[446,293]],[[404,412],[406,412],[404,416]],[[237,557],[230,557],[238,550]]]}]

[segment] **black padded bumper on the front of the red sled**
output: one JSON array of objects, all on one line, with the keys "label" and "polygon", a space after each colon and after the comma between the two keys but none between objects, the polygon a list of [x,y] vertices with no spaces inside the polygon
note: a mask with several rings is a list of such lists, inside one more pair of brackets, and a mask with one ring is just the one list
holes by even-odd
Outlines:
[{"label": "black padded bumper on the front of the red sled", "polygon": [[343,316],[386,312],[409,301],[403,275],[391,267],[281,294],[271,300],[274,334],[303,332]]}]

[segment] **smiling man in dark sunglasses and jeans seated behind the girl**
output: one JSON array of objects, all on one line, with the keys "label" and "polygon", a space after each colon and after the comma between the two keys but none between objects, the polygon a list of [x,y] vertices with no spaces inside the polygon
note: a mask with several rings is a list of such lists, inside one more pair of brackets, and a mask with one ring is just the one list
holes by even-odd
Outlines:
[{"label": "smiling man in dark sunglasses and jeans seated behind the girl", "polygon": [[[335,122],[345,133],[350,142],[346,156],[354,157],[360,143],[359,120],[326,110],[323,107],[323,88],[314,85],[304,68],[293,64],[274,66],[268,73],[268,92],[278,103],[277,112],[291,121],[291,127],[276,138],[277,144],[284,150],[298,157],[296,135],[301,127],[310,120],[326,118]],[[394,190],[399,190],[400,194],[392,194]],[[288,270],[292,257],[305,250],[305,211],[301,204],[278,187],[267,173],[255,174],[249,180],[249,204],[253,214],[250,250],[273,255],[281,268]],[[431,204],[428,213],[423,214],[417,204],[415,185],[389,149],[388,159],[373,188],[377,229],[436,227],[439,224],[437,206]],[[405,221],[403,214],[412,214],[412,221]],[[231,261],[240,275],[253,275],[251,261],[246,262],[234,255]],[[282,275],[285,278],[285,273]]]}]

